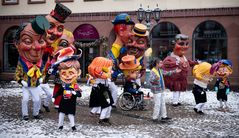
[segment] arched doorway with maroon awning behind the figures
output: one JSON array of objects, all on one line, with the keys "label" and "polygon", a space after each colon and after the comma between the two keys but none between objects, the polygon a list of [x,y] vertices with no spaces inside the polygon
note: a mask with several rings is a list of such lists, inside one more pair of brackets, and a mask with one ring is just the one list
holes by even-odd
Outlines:
[{"label": "arched doorway with maroon awning behind the figures", "polygon": [[82,77],[85,77],[92,60],[100,55],[100,46],[92,44],[95,40],[99,39],[99,33],[93,25],[82,24],[74,30],[73,35],[75,41],[85,43],[85,46],[79,47],[82,50],[82,60],[80,60]]}]

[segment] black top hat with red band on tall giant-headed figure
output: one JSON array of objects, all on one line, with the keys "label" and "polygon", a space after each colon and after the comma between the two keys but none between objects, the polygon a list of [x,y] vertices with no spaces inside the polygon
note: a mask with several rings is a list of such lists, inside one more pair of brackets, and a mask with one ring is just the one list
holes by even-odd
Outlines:
[{"label": "black top hat with red band on tall giant-headed figure", "polygon": [[51,11],[50,15],[61,23],[65,23],[65,19],[71,14],[71,10],[63,4],[56,3],[55,9]]}]

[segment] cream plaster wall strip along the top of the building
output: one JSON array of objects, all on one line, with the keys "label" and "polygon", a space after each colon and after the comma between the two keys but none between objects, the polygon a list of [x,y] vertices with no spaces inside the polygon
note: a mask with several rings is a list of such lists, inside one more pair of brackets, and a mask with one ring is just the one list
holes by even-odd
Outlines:
[{"label": "cream plaster wall strip along the top of the building", "polygon": [[[84,2],[63,3],[73,13],[111,12],[111,11],[135,11],[140,4],[146,9],[156,8],[156,4],[162,10],[168,9],[195,9],[195,8],[218,8],[218,7],[239,7],[239,0],[103,0]],[[27,4],[27,0],[19,0],[18,5],[0,5],[0,16],[4,15],[35,15],[48,14],[54,9],[54,0],[46,0],[44,4]]]}]

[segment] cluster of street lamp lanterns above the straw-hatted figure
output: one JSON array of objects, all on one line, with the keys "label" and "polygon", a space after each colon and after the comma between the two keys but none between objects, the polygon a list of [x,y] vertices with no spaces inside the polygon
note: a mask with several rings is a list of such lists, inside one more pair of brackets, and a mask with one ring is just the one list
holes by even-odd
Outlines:
[{"label": "cluster of street lamp lanterns above the straw-hatted figure", "polygon": [[158,4],[156,6],[157,8],[155,8],[154,10],[150,10],[149,6],[147,10],[144,10],[142,8],[142,4],[140,4],[140,8],[136,11],[138,21],[141,23],[145,19],[145,22],[148,24],[150,23],[150,20],[151,20],[151,14],[153,14],[154,20],[158,23],[160,20],[161,10],[158,8]]}]

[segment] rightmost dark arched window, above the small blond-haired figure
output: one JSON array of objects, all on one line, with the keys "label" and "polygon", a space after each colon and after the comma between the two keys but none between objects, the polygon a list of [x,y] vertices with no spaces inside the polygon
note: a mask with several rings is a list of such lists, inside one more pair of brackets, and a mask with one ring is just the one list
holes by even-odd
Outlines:
[{"label": "rightmost dark arched window, above the small blond-haired figure", "polygon": [[193,32],[193,57],[209,63],[227,58],[227,33],[216,21],[200,23]]}]

